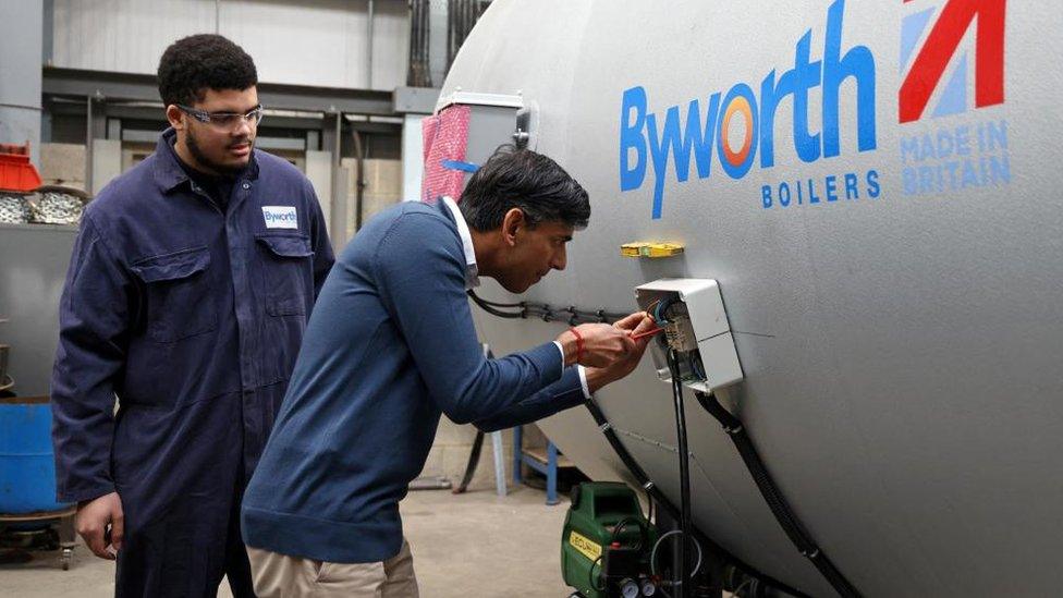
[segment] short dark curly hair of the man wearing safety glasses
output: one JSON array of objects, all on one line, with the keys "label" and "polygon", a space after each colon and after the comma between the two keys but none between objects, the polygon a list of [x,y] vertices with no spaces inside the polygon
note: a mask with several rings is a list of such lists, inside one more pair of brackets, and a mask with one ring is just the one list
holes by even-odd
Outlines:
[{"label": "short dark curly hair of the man wearing safety glasses", "polygon": [[159,60],[159,95],[167,106],[191,106],[201,100],[207,89],[244,90],[257,83],[255,61],[220,35],[179,39]]}]

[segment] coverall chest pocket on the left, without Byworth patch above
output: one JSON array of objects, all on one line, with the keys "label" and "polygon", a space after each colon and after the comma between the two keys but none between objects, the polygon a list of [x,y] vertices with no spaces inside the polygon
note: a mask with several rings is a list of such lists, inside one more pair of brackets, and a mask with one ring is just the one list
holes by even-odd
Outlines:
[{"label": "coverall chest pocket on the left, without Byworth patch above", "polygon": [[168,343],[218,327],[210,297],[207,247],[182,249],[137,260],[131,266],[147,289],[147,334]]}]

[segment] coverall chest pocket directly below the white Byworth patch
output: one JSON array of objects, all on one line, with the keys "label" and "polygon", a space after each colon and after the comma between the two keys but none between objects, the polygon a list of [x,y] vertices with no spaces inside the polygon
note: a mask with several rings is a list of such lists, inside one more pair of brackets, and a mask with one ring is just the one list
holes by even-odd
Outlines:
[{"label": "coverall chest pocket directly below the white Byworth patch", "polygon": [[265,249],[266,313],[270,316],[306,314],[313,267],[310,237],[305,234],[265,233],[256,235]]}]

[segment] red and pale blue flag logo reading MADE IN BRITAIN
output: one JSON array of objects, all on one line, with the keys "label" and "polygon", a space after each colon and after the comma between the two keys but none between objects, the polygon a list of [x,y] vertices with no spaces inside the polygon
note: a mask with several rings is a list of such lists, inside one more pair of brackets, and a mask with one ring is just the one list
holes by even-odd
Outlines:
[{"label": "red and pale blue flag logo reading MADE IN BRITAIN", "polygon": [[[1011,182],[1007,121],[978,112],[1004,103],[1006,0],[904,0],[904,4],[897,93],[903,194],[1006,185]],[[965,45],[972,29],[974,41]],[[928,130],[923,122],[912,127],[914,133],[906,132],[906,123],[928,118],[940,119],[941,124],[932,123]]]}]

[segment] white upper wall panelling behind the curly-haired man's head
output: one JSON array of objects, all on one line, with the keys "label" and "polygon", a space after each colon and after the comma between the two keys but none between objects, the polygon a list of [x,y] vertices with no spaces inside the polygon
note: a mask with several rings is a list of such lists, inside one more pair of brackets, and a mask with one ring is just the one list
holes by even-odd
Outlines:
[{"label": "white upper wall panelling behind the curly-haired man's head", "polygon": [[[154,73],[174,40],[217,29],[255,59],[260,81],[366,88],[366,0],[54,0],[57,66]],[[406,77],[405,2],[377,0],[371,88]]]}]

